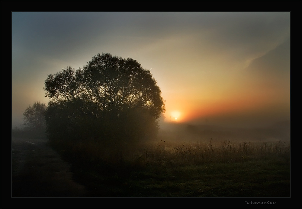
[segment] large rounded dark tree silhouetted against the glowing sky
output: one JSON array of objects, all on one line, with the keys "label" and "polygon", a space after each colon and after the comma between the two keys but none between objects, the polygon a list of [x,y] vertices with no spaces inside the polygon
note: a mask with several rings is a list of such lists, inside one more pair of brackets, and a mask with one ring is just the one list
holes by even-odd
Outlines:
[{"label": "large rounded dark tree silhouetted against the glowing sky", "polygon": [[[83,68],[45,80],[50,130],[75,138],[139,138],[154,132],[165,101],[149,70],[132,58],[98,54]],[[50,131],[51,132],[51,131]],[[53,131],[54,132],[54,131]]]}]

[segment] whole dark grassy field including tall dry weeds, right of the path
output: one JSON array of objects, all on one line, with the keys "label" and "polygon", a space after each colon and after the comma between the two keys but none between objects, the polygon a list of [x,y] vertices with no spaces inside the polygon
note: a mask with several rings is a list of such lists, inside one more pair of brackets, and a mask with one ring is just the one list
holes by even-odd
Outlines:
[{"label": "whole dark grassy field including tall dry weeds, right of the path", "polygon": [[59,151],[91,197],[290,196],[290,147],[281,141],[160,141],[111,149],[89,141]]}]

